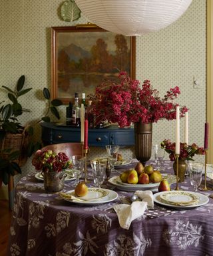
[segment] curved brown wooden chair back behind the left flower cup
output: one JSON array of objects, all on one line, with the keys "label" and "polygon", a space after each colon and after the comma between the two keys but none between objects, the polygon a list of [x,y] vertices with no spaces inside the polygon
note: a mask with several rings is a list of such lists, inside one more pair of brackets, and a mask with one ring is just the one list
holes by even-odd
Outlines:
[{"label": "curved brown wooden chair back behind the left flower cup", "polygon": [[67,157],[71,157],[72,155],[83,155],[83,149],[81,143],[59,143],[59,144],[51,144],[43,147],[41,151],[45,151],[47,149],[51,149],[55,153],[64,152]]}]

